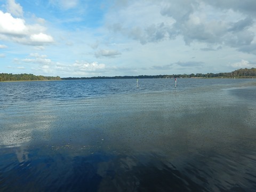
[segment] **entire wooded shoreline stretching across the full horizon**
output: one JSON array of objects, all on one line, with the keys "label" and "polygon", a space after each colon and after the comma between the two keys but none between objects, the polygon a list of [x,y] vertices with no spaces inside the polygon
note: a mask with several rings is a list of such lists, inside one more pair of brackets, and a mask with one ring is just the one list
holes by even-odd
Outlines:
[{"label": "entire wooded shoreline stretching across the full horizon", "polygon": [[106,76],[98,76],[98,77],[65,77],[60,78],[49,77],[49,76],[36,76],[33,74],[0,74],[0,82],[3,81],[47,81],[47,80],[74,80],[74,79],[127,79],[127,78],[249,78],[256,76],[256,68],[251,69],[237,69],[230,73],[207,73],[207,74],[179,74],[179,75],[139,75],[139,76],[114,76],[114,77],[106,77]]}]

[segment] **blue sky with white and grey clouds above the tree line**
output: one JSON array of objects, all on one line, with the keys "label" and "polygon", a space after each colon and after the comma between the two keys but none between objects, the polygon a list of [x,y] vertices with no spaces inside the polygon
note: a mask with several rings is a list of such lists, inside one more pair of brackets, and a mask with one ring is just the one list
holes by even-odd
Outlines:
[{"label": "blue sky with white and grey clouds above the tree line", "polygon": [[0,0],[0,73],[60,77],[256,67],[255,0]]}]

